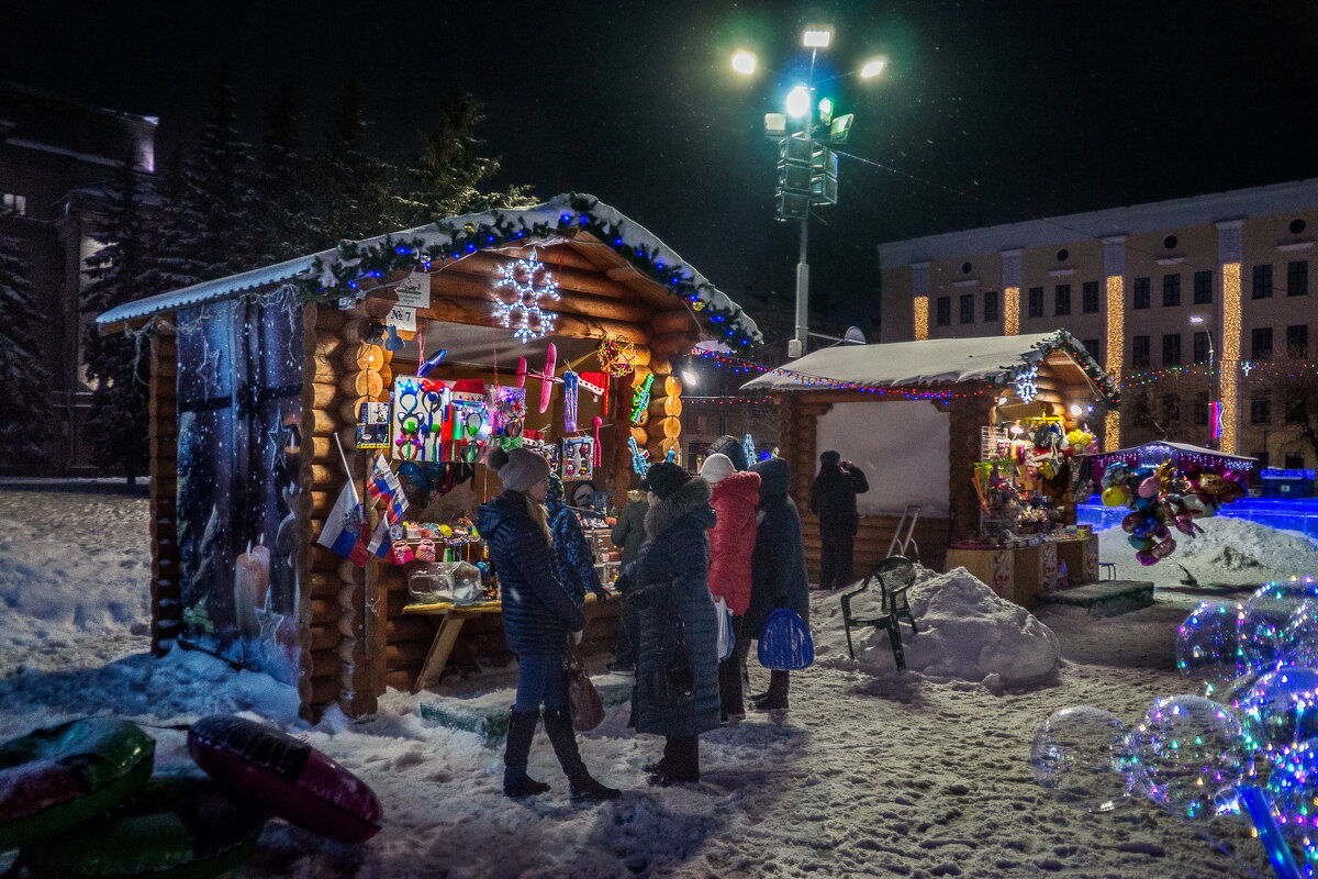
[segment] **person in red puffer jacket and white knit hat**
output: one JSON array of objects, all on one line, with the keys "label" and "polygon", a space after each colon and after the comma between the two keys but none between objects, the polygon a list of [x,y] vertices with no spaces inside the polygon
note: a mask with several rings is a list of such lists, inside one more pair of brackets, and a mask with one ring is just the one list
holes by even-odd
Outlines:
[{"label": "person in red puffer jacket and white knit hat", "polygon": [[[733,611],[733,635],[741,642],[741,618],[750,606],[750,557],[755,550],[759,473],[738,473],[730,457],[710,455],[700,474],[713,488],[709,503],[718,519],[709,528],[709,590],[728,602],[728,609]],[[734,650],[718,664],[721,714],[731,726],[746,717],[739,656]]]}]

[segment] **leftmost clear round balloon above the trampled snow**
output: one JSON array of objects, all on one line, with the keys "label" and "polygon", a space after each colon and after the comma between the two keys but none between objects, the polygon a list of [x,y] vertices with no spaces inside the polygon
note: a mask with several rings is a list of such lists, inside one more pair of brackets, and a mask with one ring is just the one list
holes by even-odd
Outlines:
[{"label": "leftmost clear round balloon above the trampled snow", "polygon": [[1035,734],[1029,762],[1035,780],[1065,805],[1112,812],[1130,804],[1116,749],[1128,727],[1116,714],[1093,705],[1053,712]]}]

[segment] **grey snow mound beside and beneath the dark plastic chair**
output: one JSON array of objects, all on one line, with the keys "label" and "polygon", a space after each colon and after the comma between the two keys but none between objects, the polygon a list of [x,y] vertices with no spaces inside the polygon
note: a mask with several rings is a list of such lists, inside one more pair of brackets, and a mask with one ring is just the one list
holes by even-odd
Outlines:
[{"label": "grey snow mound beside and beneath the dark plastic chair", "polygon": [[[908,593],[920,633],[903,623],[902,644],[907,669],[927,677],[983,683],[992,691],[1043,681],[1057,671],[1057,637],[1024,608],[999,597],[965,568],[950,573],[920,572]],[[869,592],[853,604],[857,617],[878,615],[878,596]],[[836,596],[822,596],[811,621],[816,652],[846,659],[842,608]],[[853,629],[858,662],[866,671],[896,667],[887,631]]]}]

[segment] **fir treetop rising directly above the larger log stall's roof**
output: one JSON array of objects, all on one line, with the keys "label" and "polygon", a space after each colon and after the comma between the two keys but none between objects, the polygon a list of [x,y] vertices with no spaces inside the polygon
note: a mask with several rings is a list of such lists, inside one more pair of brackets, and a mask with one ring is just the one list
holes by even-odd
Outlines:
[{"label": "fir treetop rising directly above the larger log stall's roof", "polygon": [[484,121],[481,104],[469,92],[459,91],[449,98],[435,127],[422,136],[420,156],[407,169],[411,191],[405,204],[413,212],[409,225],[535,203],[527,186],[485,190],[500,173],[500,159],[480,153],[484,141],[476,137],[476,129]]}]

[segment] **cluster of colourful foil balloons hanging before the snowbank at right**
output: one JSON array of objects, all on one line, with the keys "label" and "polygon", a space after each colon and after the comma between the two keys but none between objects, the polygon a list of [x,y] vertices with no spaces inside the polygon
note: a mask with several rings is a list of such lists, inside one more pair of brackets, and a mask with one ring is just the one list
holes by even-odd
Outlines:
[{"label": "cluster of colourful foil balloons hanging before the snowbank at right", "polygon": [[1157,564],[1176,552],[1172,528],[1188,538],[1202,531],[1194,519],[1217,514],[1223,503],[1244,497],[1239,474],[1226,476],[1189,465],[1177,470],[1170,460],[1156,469],[1112,461],[1103,472],[1104,506],[1126,506],[1131,513],[1122,519],[1122,528],[1130,534],[1131,547],[1140,564]]}]

